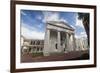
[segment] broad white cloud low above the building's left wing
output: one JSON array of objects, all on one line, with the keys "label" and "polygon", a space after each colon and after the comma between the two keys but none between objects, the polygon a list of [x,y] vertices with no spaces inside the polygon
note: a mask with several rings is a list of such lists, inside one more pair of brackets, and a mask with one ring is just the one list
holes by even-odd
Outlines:
[{"label": "broad white cloud low above the building's left wing", "polygon": [[30,30],[27,27],[21,27],[21,35],[23,35],[27,39],[44,39],[44,32],[38,32],[34,30]]}]

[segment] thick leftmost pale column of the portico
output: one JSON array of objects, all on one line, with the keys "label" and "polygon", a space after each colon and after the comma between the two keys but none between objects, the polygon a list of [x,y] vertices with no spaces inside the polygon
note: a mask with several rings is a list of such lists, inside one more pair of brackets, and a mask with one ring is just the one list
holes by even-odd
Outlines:
[{"label": "thick leftmost pale column of the portico", "polygon": [[43,53],[44,53],[44,56],[48,56],[49,55],[49,41],[50,41],[50,30],[46,30],[46,33],[45,33],[45,40],[44,40],[44,49],[43,49]]}]

